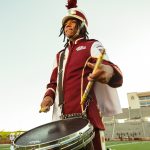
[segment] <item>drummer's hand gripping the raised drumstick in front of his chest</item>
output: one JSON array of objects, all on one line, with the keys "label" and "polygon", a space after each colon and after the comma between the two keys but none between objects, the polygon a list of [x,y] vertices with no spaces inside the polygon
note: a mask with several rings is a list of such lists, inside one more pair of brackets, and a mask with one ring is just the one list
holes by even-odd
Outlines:
[{"label": "drummer's hand gripping the raised drumstick in front of his chest", "polygon": [[[94,69],[95,64],[88,62],[88,67]],[[114,70],[109,65],[101,64],[101,66],[95,71],[95,73],[91,73],[88,76],[89,81],[98,81],[104,84],[107,84],[111,77],[114,74]]]}]

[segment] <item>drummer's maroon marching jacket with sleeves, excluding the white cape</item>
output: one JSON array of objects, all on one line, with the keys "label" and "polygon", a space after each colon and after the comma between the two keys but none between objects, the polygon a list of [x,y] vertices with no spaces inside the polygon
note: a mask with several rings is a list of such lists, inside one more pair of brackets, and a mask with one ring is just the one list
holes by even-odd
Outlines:
[{"label": "drummer's maroon marching jacket with sleeves, excluding the white cape", "polygon": [[[93,54],[93,45],[96,40],[78,39],[74,44],[70,44],[65,52],[64,77],[63,77],[63,95],[64,105],[63,113],[81,113],[81,93],[84,92],[88,83],[87,76],[92,70],[85,66],[87,59],[90,62],[95,62],[94,58],[90,58]],[[96,45],[96,44],[95,44]],[[102,45],[95,46],[98,53],[103,48]],[[47,85],[45,96],[51,96],[55,100],[57,81],[58,81],[58,62],[61,51],[57,54],[57,65],[52,71],[50,83]],[[119,68],[108,60],[104,60],[103,64],[111,65],[114,69],[114,76],[109,81],[111,87],[119,87],[122,85],[123,79]],[[84,67],[85,66],[85,67]],[[83,74],[84,71],[84,74]],[[83,74],[83,75],[82,75]],[[81,86],[83,80],[83,86]],[[82,92],[81,92],[82,91]],[[97,100],[92,90],[90,93],[92,101],[87,110],[87,116],[94,127],[104,129],[104,125],[100,116],[100,110],[97,107]]]}]

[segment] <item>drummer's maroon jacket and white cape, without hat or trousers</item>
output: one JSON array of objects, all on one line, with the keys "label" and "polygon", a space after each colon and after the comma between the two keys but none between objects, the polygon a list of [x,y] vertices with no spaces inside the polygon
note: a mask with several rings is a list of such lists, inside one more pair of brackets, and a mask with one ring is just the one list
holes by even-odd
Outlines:
[{"label": "drummer's maroon jacket and white cape, without hat or trousers", "polygon": [[[82,113],[81,111],[81,96],[88,83],[87,76],[91,69],[85,66],[86,61],[92,56],[96,57],[102,50],[103,46],[96,40],[77,39],[74,44],[69,44],[65,50],[65,58],[63,61],[63,114]],[[58,100],[58,64],[62,51],[56,56],[56,63],[52,71],[50,83],[47,85],[46,96],[50,96],[54,101],[53,121],[60,119],[61,107]],[[95,60],[89,59],[94,62]],[[109,64],[114,69],[114,75],[108,85],[96,83],[91,92],[91,101],[87,109],[87,117],[95,129],[104,130],[102,115],[110,116],[121,112],[121,107],[116,92],[116,87],[122,85],[122,75],[119,68],[111,63],[107,56],[103,60],[103,64]],[[82,75],[82,72],[84,74]],[[82,87],[83,80],[83,87]],[[81,89],[83,88],[83,89]],[[100,95],[100,96],[99,96]],[[103,105],[103,101],[107,101]],[[111,103],[109,103],[111,102]],[[113,105],[112,105],[113,104]],[[114,107],[113,107],[114,106]],[[100,108],[102,107],[102,108]],[[115,109],[115,110],[113,110]]]}]

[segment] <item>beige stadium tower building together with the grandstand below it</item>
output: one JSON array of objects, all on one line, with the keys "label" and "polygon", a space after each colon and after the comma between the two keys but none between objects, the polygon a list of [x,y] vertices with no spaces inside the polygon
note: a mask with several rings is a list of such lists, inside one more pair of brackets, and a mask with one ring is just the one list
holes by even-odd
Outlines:
[{"label": "beige stadium tower building together with the grandstand below it", "polygon": [[150,140],[150,92],[127,93],[128,108],[104,117],[106,140]]}]

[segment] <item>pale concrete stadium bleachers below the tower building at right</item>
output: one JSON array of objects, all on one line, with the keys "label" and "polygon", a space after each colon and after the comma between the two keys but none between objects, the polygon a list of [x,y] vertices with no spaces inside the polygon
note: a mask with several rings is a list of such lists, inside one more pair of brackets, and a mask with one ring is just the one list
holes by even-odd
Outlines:
[{"label": "pale concrete stadium bleachers below the tower building at right", "polygon": [[124,108],[123,113],[104,117],[106,139],[150,138],[150,107]]}]

